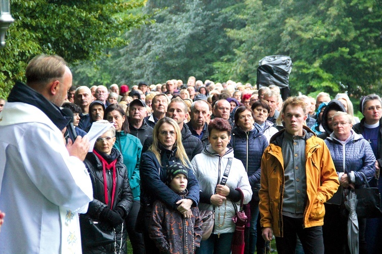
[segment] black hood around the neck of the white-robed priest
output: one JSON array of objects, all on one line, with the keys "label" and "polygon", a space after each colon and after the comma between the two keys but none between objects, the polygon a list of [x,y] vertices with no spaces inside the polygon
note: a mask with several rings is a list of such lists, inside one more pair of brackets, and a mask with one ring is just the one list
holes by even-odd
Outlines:
[{"label": "black hood around the neck of the white-robed priest", "polygon": [[36,92],[24,83],[16,82],[8,96],[8,102],[22,102],[37,107],[57,126],[63,130],[72,118],[67,117],[61,109],[48,101],[42,94]]}]

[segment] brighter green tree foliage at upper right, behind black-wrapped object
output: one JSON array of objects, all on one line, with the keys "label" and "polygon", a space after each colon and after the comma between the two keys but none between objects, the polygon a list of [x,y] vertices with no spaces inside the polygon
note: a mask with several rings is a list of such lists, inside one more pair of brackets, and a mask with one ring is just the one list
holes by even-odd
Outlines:
[{"label": "brighter green tree foliage at upper right, behind black-wrapped object", "polygon": [[234,55],[214,64],[217,73],[231,73],[234,79],[248,76],[241,80],[254,83],[259,60],[285,54],[293,62],[290,88],[294,94],[335,94],[343,91],[339,82],[354,97],[380,91],[380,1],[247,0],[245,5],[236,18],[247,25],[228,31],[240,46]]}]

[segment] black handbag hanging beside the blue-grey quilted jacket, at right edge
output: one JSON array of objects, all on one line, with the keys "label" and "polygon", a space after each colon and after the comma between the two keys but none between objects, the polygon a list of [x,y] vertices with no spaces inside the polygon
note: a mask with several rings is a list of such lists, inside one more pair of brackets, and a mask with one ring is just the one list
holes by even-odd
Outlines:
[{"label": "black handbag hanging beside the blue-grey quilted jacket, at right edge", "polygon": [[355,189],[357,194],[356,213],[358,218],[379,218],[382,217],[380,194],[378,188],[370,187],[366,176],[361,172],[365,181],[364,188]]}]

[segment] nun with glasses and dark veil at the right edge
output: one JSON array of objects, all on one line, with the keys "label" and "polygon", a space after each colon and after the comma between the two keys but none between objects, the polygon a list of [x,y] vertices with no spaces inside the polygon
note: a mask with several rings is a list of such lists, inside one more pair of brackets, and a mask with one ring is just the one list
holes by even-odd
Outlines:
[{"label": "nun with glasses and dark veil at the right edge", "polygon": [[[375,175],[370,181],[371,187],[378,187],[382,193],[382,178],[380,167],[382,166],[382,101],[376,94],[369,94],[361,99],[360,110],[364,118],[360,123],[353,126],[353,130],[370,143],[375,155]],[[367,219],[366,241],[368,253],[380,253],[382,242],[382,218]]]}]

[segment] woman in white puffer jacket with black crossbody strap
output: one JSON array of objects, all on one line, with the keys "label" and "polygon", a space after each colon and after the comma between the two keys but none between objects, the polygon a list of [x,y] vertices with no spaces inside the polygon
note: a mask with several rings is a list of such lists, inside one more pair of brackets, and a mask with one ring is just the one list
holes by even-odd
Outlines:
[{"label": "woman in white puffer jacket with black crossbody strap", "polygon": [[[200,210],[214,211],[214,229],[211,236],[202,241],[197,253],[230,253],[235,224],[232,217],[239,209],[240,188],[244,204],[251,201],[252,189],[240,160],[233,157],[233,149],[227,148],[231,139],[231,125],[222,118],[213,119],[208,125],[210,144],[191,161],[200,187]],[[232,160],[228,177],[224,176],[229,160]],[[228,171],[228,170],[227,170]],[[226,184],[223,184],[226,181]]]}]

